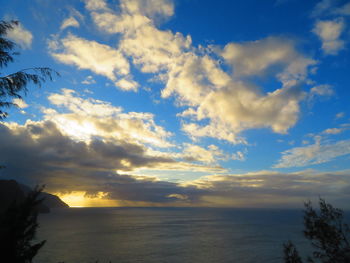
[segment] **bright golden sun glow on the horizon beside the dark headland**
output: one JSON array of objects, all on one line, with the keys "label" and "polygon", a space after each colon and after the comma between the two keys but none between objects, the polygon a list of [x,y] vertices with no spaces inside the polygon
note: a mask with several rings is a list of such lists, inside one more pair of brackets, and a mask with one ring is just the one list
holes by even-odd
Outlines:
[{"label": "bright golden sun glow on the horizon beside the dark headland", "polygon": [[106,199],[106,193],[99,192],[96,196],[89,196],[84,191],[74,191],[69,194],[56,193],[70,207],[114,207],[118,201]]}]

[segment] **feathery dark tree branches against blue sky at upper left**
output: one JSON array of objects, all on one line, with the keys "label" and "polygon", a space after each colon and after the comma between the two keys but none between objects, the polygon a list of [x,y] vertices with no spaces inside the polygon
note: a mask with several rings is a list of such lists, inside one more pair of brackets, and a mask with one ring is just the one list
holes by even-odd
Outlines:
[{"label": "feathery dark tree branches against blue sky at upper left", "polygon": [[[17,21],[0,21],[0,69],[7,67],[14,61],[14,56],[18,55],[17,52],[12,52],[16,44],[4,37],[17,24]],[[16,106],[11,98],[22,98],[21,94],[26,94],[29,83],[40,87],[46,80],[52,80],[53,75],[59,74],[45,67],[26,68],[5,76],[0,73],[0,120],[8,115],[4,108]]]}]

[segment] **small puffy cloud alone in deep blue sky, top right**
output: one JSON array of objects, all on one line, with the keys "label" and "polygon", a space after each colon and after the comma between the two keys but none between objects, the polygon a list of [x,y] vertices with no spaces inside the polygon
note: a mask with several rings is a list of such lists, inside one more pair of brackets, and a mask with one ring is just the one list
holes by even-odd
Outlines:
[{"label": "small puffy cloud alone in deep blue sky, top right", "polygon": [[322,50],[328,55],[337,55],[344,48],[344,41],[340,39],[345,29],[343,19],[318,21],[312,30],[322,41]]}]

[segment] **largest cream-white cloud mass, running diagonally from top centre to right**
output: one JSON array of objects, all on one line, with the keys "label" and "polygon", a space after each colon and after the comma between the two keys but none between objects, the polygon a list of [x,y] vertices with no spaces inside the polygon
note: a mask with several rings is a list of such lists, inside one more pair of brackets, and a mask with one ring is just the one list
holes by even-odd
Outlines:
[{"label": "largest cream-white cloud mass, running diagonally from top centre to right", "polygon": [[[232,65],[232,76],[209,48],[195,47],[190,36],[156,26],[155,17],[173,14],[171,1],[140,3],[121,1],[118,12],[105,2],[100,2],[99,8],[88,9],[93,10],[91,16],[101,30],[119,34],[118,51],[130,57],[142,72],[156,74],[165,84],[163,98],[174,96],[176,105],[188,107],[178,116],[192,117],[192,122],[184,121],[182,127],[191,138],[214,137],[242,143],[245,140],[239,133],[246,129],[271,128],[286,133],[295,125],[299,102],[306,97],[300,85],[307,80],[309,67],[316,64],[297,51],[295,42],[268,37],[230,43],[223,51],[214,48]],[[263,87],[237,80],[266,73],[273,74],[281,88],[264,93]],[[132,89],[123,80],[119,85]]]}]

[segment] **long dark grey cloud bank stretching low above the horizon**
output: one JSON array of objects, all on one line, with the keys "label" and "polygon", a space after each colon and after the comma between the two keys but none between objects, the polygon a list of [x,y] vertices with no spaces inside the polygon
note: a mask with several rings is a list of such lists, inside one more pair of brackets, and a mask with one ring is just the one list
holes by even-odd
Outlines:
[{"label": "long dark grey cloud bank stretching low above the horizon", "polygon": [[151,156],[144,146],[123,140],[76,141],[49,121],[0,124],[0,147],[0,163],[7,166],[0,171],[1,177],[46,184],[51,192],[104,192],[107,198],[127,205],[136,201],[147,205],[285,207],[301,206],[319,195],[339,205],[350,198],[349,171],[217,174],[186,184],[134,176],[129,173],[138,167],[176,169],[184,164]]}]

